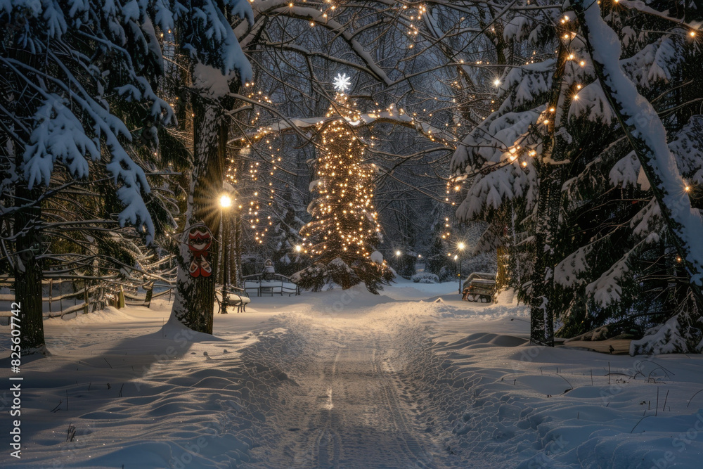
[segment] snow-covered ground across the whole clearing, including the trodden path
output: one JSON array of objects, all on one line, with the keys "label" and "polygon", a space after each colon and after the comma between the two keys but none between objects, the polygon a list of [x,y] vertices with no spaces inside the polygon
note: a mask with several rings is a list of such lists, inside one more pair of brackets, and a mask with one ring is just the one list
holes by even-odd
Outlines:
[{"label": "snow-covered ground across the whole clearing, including the trodden path", "polygon": [[254,297],[215,337],[163,328],[165,301],[51,319],[52,356],[22,362],[21,460],[1,394],[0,466],[701,467],[702,357],[530,347],[523,307],[458,297]]}]

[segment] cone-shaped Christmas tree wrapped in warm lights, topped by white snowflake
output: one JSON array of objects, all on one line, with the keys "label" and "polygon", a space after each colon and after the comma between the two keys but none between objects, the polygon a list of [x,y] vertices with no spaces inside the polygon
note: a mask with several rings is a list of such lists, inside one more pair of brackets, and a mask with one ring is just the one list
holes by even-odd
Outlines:
[{"label": "cone-shaped Christmas tree wrapped in warm lights, topped by white snowflake", "polygon": [[337,75],[335,103],[318,129],[318,179],[310,184],[317,197],[308,207],[312,221],[300,230],[302,250],[313,264],[293,278],[309,290],[332,283],[347,289],[363,282],[378,293],[394,274],[378,252],[374,255],[382,241],[373,207],[375,167],[363,162],[366,143],[354,132],[360,117],[344,94],[348,86],[349,78]]}]

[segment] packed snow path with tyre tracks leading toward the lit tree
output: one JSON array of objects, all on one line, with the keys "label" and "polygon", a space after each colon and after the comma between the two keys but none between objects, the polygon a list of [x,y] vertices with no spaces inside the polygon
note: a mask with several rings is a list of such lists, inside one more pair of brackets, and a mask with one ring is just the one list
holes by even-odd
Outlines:
[{"label": "packed snow path with tyre tracks leading toward the lit tree", "polygon": [[271,425],[280,438],[260,446],[257,468],[432,468],[434,446],[394,371],[393,334],[378,328],[318,326],[292,364],[294,385],[279,393]]}]

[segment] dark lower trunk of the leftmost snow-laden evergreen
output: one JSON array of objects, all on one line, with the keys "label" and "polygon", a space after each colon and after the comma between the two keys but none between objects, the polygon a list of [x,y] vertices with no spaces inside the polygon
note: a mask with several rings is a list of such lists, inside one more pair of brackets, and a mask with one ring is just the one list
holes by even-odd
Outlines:
[{"label": "dark lower trunk of the leftmost snow-laden evergreen", "polygon": [[[18,157],[19,159],[20,157]],[[21,167],[18,165],[18,167]],[[37,200],[41,191],[31,191],[25,184],[15,186],[16,205]],[[44,347],[44,316],[41,305],[41,249],[39,223],[41,207],[24,207],[15,214],[14,231],[17,235],[15,259],[15,302],[20,303],[20,331],[22,354],[36,353]]]}]

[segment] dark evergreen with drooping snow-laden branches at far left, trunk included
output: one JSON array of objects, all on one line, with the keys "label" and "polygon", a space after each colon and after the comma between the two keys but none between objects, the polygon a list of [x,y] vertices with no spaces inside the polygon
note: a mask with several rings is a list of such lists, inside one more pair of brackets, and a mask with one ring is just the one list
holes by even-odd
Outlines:
[{"label": "dark evergreen with drooping snow-laden branches at far left, trunk included", "polygon": [[[155,25],[162,27],[171,16],[161,2],[150,1],[0,4],[0,127],[9,136],[0,153],[4,166],[10,164],[0,214],[13,220],[8,230],[13,253],[7,260],[22,304],[24,352],[44,346],[41,251],[47,198],[75,179],[94,176],[100,162],[117,186],[109,190],[119,207],[115,219],[136,226],[148,242],[153,239],[145,203],[150,186],[134,158],[131,131],[111,104],[140,103],[146,115],[140,122],[142,145],[155,143],[157,126],[172,121],[172,109],[153,89],[163,63]],[[56,173],[66,176],[65,184],[46,190]]]}]

